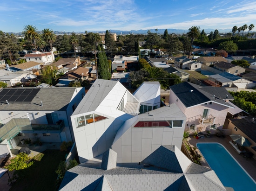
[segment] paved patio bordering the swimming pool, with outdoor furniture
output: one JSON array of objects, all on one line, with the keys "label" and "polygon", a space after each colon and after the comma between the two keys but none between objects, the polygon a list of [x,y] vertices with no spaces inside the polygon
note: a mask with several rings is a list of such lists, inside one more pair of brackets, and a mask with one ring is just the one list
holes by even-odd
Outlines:
[{"label": "paved patio bordering the swimming pool, with outdoor furniture", "polygon": [[[229,136],[226,136],[225,138],[218,138],[215,135],[211,135],[210,138],[203,138],[203,139],[195,139],[192,135],[190,135],[187,138],[187,141],[189,142],[190,146],[196,146],[196,143],[202,142],[216,142],[222,144],[229,153],[236,159],[236,161],[243,166],[244,170],[248,172],[248,174],[256,181],[256,156],[254,156],[251,159],[246,159],[243,157],[243,154],[238,154],[236,150],[230,145],[229,141],[232,140]],[[198,149],[197,149],[198,150]],[[198,150],[200,153],[200,151]],[[202,160],[200,161],[202,166],[207,166],[207,162],[202,157]]]}]

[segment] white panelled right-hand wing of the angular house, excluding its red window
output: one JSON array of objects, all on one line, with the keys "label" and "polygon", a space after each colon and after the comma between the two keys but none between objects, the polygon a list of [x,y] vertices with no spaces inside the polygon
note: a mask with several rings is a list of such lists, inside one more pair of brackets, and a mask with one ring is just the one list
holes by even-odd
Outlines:
[{"label": "white panelled right-hand wing of the angular house, excluding its red window", "polygon": [[[134,127],[139,121],[183,121],[182,127]],[[118,130],[112,149],[118,163],[140,162],[162,145],[182,146],[186,116],[171,104],[125,121]]]}]

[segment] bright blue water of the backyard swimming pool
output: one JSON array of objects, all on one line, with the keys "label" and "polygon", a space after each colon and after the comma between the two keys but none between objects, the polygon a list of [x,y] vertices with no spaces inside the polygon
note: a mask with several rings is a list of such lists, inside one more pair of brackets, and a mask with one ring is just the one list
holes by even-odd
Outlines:
[{"label": "bright blue water of the backyard swimming pool", "polygon": [[197,143],[196,146],[224,186],[235,191],[256,191],[256,182],[224,146],[219,143]]}]

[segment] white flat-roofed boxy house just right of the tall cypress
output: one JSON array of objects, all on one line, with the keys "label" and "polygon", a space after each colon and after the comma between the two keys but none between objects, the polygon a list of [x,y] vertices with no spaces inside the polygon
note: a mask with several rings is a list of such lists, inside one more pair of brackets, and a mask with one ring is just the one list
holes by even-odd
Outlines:
[{"label": "white flat-roofed boxy house just right of the tall cypress", "polygon": [[111,70],[116,70],[117,72],[124,71],[126,69],[135,67],[138,64],[139,56],[122,56],[115,55],[114,60],[111,64]]}]

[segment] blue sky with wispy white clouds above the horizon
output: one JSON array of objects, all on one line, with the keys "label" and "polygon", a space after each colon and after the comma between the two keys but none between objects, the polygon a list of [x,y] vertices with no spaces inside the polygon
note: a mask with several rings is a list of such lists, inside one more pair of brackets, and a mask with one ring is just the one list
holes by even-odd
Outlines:
[{"label": "blue sky with wispy white clouds above the horizon", "polygon": [[98,32],[220,30],[245,24],[256,26],[256,0],[1,0],[0,5],[3,32],[22,32],[25,25],[39,31]]}]

